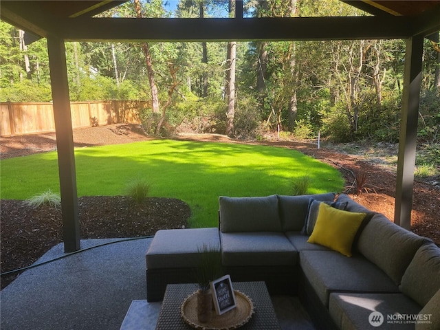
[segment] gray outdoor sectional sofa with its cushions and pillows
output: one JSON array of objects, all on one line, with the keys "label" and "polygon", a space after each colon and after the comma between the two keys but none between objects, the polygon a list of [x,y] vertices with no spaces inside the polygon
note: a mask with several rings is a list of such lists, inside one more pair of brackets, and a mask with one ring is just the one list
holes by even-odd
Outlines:
[{"label": "gray outdoor sectional sofa with its cushions and pillows", "polygon": [[147,299],[195,282],[199,250],[210,245],[232,281],[298,295],[318,329],[440,329],[440,248],[347,195],[334,199],[219,197],[219,228],[157,232]]}]

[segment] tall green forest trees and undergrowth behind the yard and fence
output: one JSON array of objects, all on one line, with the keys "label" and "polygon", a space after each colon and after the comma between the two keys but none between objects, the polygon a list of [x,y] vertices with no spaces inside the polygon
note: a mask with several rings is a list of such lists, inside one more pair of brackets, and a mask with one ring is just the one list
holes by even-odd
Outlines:
[{"label": "tall green forest trees and undergrowth behind the yard and fence", "polygon": [[[103,17],[232,17],[234,1],[131,0]],[[247,17],[361,16],[338,0],[244,1]],[[45,39],[0,21],[0,101],[52,99]],[[153,135],[398,143],[405,41],[66,43],[72,101],[148,100]],[[440,46],[425,39],[417,163],[440,168]]]}]

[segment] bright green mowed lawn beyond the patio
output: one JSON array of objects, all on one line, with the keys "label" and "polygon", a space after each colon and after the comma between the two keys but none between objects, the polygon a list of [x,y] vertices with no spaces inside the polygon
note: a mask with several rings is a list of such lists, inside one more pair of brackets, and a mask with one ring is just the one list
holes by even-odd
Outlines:
[{"label": "bright green mowed lawn beyond the patio", "polygon": [[[191,227],[217,226],[219,196],[292,195],[292,181],[309,177],[307,193],[338,192],[335,168],[288,148],[153,140],[78,148],[78,196],[124,195],[135,177],[151,184],[151,197],[186,201]],[[1,160],[1,199],[59,192],[56,152]]]}]

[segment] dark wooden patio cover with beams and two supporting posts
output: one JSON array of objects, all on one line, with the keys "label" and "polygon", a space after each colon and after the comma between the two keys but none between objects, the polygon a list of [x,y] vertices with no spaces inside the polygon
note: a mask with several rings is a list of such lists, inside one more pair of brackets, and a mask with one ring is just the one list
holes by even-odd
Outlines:
[{"label": "dark wooden patio cover with beams and two supporting posts", "polygon": [[65,252],[80,249],[78,197],[65,41],[312,41],[405,39],[395,223],[410,228],[423,39],[439,40],[440,1],[344,0],[360,17],[234,19],[94,18],[126,1],[0,2],[0,18],[27,32],[28,43],[47,39],[56,125]]}]

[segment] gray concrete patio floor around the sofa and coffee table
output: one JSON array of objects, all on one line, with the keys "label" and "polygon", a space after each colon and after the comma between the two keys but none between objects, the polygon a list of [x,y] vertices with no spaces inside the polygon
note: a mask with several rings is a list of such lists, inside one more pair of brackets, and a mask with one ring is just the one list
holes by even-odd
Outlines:
[{"label": "gray concrete patio floor around the sofa and coffee table", "polygon": [[[119,241],[118,243],[110,243]],[[0,293],[2,330],[118,330],[132,300],[146,299],[145,252],[151,239],[90,239],[91,248],[26,270]],[[63,244],[37,263],[64,256]],[[313,330],[295,297],[272,297],[281,328]],[[148,303],[155,329],[161,303]],[[172,330],[172,329],[170,329]]]}]

